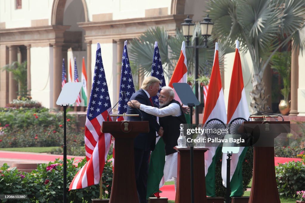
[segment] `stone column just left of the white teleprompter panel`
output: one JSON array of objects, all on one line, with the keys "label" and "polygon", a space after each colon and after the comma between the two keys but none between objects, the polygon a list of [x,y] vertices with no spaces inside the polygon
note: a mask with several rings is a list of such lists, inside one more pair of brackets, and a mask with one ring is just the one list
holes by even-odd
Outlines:
[{"label": "stone column just left of the white teleprompter panel", "polygon": [[53,107],[59,109],[56,104],[58,96],[61,91],[61,78],[62,78],[62,63],[63,52],[62,44],[53,44]]}]

